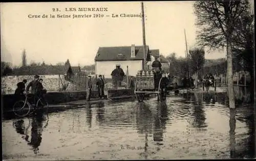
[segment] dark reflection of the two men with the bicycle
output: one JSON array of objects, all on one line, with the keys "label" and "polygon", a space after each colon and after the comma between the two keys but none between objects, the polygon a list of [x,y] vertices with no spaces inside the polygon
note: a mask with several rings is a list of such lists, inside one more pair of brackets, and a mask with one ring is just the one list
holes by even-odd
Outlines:
[{"label": "dark reflection of the two men with the bicycle", "polygon": [[[24,119],[13,122],[13,127],[16,132],[23,135],[23,139],[28,142],[28,145],[32,147],[35,154],[39,152],[39,146],[42,141],[42,131],[48,126],[49,118],[44,113],[34,114],[31,118],[28,118],[29,123],[25,128]],[[29,127],[31,126],[31,137],[29,141]]]}]

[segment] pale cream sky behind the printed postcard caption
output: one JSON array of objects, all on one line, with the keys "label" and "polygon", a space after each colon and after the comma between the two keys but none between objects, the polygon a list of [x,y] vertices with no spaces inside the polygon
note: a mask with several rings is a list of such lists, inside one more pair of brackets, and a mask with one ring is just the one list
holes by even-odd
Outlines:
[{"label": "pale cream sky behind the printed postcard caption", "polygon": [[[33,60],[54,65],[69,59],[72,66],[84,66],[94,64],[99,47],[143,45],[141,17],[120,17],[123,13],[140,14],[141,2],[1,3],[0,7],[1,61],[12,65],[21,65],[24,49],[28,63]],[[53,12],[53,8],[60,11]],[[108,11],[78,11],[78,8]],[[144,2],[144,13],[146,45],[159,49],[164,56],[176,52],[178,57],[185,57],[184,29],[188,49],[196,43],[193,2]],[[29,18],[44,14],[48,17]],[[49,18],[50,14],[71,18]],[[91,17],[73,18],[73,14]],[[103,17],[94,18],[93,14]],[[225,54],[206,52],[205,58],[225,58]]]}]

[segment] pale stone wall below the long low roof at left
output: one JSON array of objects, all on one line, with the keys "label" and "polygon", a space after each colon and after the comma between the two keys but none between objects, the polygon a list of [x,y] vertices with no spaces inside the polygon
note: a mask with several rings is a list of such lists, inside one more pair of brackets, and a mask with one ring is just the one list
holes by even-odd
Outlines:
[{"label": "pale stone wall below the long low roof at left", "polygon": [[[65,75],[40,75],[40,78],[43,79],[42,86],[44,86],[47,91],[59,91],[60,88],[62,88],[62,84],[65,85],[67,83],[69,83],[69,85],[66,91],[74,91],[78,89],[76,85],[65,80]],[[29,83],[34,79],[34,75],[3,76],[1,78],[1,86],[3,91],[11,91],[11,93],[14,93],[17,88],[17,83],[22,82],[23,79],[27,79]]]}]

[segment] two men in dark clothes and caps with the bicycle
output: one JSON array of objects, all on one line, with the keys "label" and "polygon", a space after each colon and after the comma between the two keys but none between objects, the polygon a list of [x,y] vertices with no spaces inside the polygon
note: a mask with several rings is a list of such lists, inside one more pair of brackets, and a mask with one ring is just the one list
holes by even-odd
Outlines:
[{"label": "two men in dark clothes and caps with the bicycle", "polygon": [[[37,98],[41,97],[42,94],[46,93],[46,89],[42,86],[42,79],[39,79],[39,75],[35,75],[33,81],[31,81],[27,87],[27,79],[17,83],[17,89],[15,95],[17,99],[20,99],[24,94],[28,94],[29,88],[31,87],[31,94],[33,95],[33,104],[35,106]],[[26,88],[25,88],[26,87]]]}]

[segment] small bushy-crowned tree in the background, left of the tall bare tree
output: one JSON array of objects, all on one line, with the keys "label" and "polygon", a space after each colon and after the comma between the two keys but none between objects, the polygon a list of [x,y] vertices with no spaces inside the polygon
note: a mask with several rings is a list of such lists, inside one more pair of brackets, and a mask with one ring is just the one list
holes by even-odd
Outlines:
[{"label": "small bushy-crowned tree in the background, left of the tall bare tree", "polygon": [[189,62],[190,68],[193,72],[195,72],[195,87],[197,88],[197,80],[198,80],[198,72],[204,65],[205,52],[203,48],[195,47],[189,50]]}]

